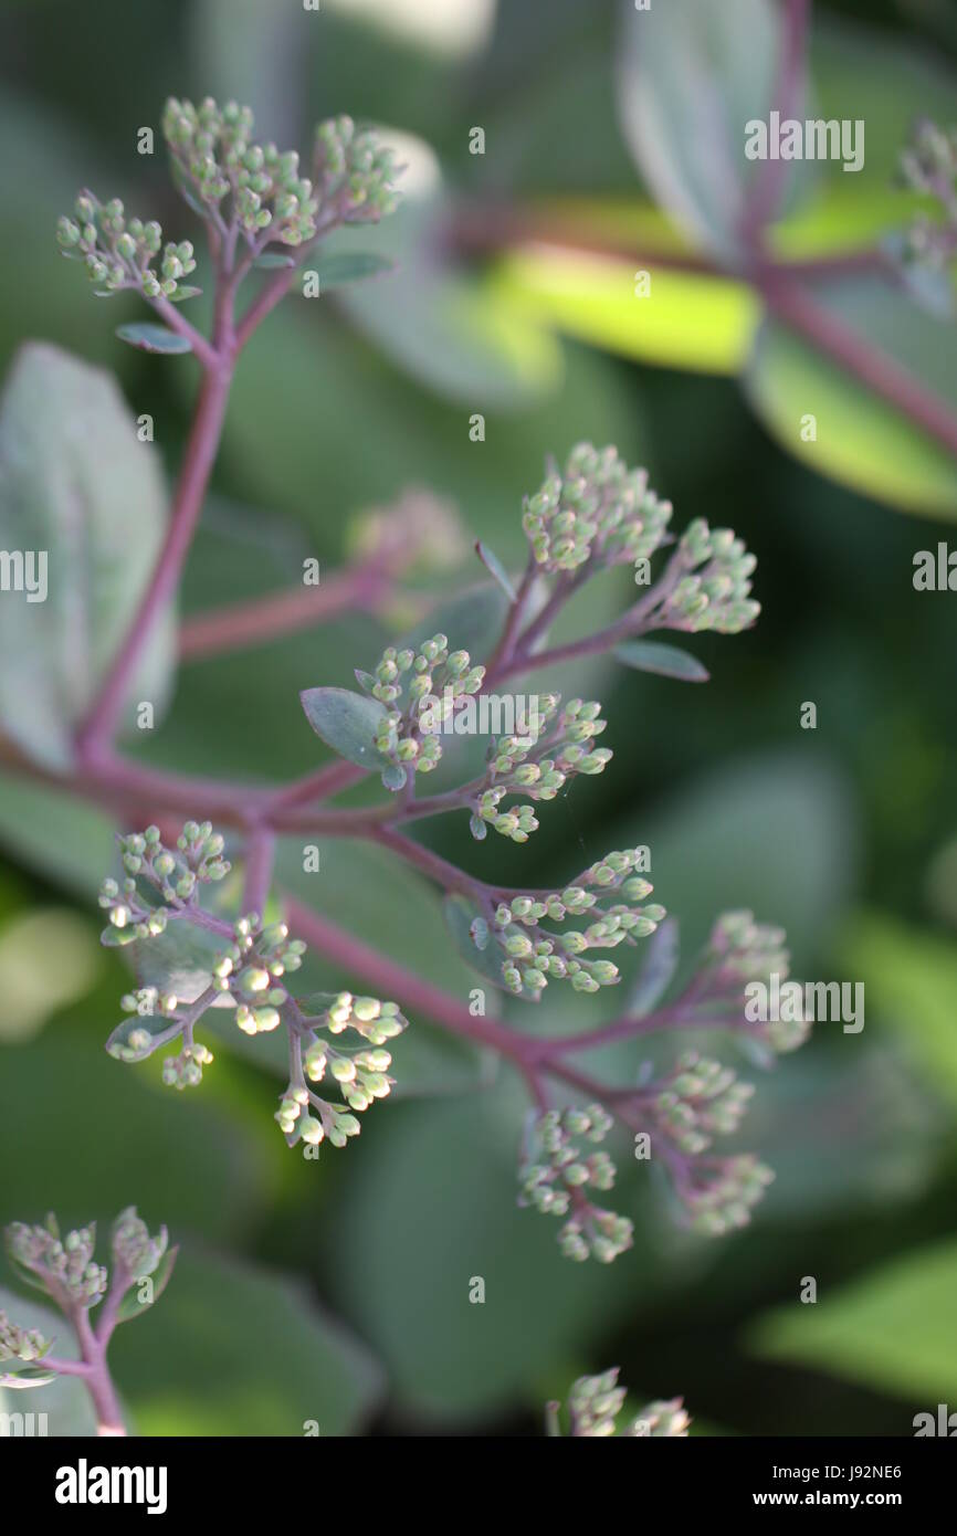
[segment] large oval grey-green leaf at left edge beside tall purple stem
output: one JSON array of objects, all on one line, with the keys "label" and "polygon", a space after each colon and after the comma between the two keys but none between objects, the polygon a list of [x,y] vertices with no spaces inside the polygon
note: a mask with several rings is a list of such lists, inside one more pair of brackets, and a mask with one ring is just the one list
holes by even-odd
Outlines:
[{"label": "large oval grey-green leaf at left edge beside tall purple stem", "polygon": [[[0,598],[0,728],[54,768],[137,611],[166,524],[157,452],[112,378],[46,343],[17,353],[0,402],[0,548],[46,567],[45,601]],[[26,574],[26,571],[25,571]],[[37,587],[40,590],[40,587]],[[172,616],[131,696],[161,714]]]}]

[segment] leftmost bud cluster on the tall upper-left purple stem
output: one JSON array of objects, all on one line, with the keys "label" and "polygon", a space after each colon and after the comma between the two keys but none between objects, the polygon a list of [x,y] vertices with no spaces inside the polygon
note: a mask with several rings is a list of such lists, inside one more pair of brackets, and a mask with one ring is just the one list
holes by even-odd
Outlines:
[{"label": "leftmost bud cluster on the tall upper-left purple stem", "polygon": [[118,197],[100,203],[84,187],[74,217],[63,215],[57,223],[57,241],[63,255],[83,260],[101,296],[137,289],[146,298],[163,296],[180,304],[200,292],[183,286],[183,278],[197,269],[192,243],[171,240],[163,246],[160,224],[127,218]]}]

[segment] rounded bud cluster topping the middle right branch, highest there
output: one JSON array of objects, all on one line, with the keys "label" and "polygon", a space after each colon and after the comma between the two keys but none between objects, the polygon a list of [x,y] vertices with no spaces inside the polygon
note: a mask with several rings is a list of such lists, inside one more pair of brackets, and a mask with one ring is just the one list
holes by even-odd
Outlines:
[{"label": "rounded bud cluster topping the middle right branch, highest there", "polygon": [[550,573],[634,564],[665,539],[671,502],[648,487],[647,470],[630,470],[616,449],[579,442],[564,473],[551,473],[522,502],[531,553]]}]

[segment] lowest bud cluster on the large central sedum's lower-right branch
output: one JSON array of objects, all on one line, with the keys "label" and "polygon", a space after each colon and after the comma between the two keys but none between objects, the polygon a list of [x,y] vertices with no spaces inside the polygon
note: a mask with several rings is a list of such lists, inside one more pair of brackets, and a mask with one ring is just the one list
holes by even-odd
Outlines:
[{"label": "lowest bud cluster on the large central sedum's lower-right branch", "polygon": [[627,1217],[593,1206],[588,1187],[614,1187],[614,1164],[607,1152],[585,1150],[604,1141],[613,1126],[602,1104],[585,1109],[548,1109],[530,1126],[525,1157],[519,1167],[519,1206],[535,1206],[544,1215],[567,1217],[559,1249],[567,1258],[588,1256],[610,1264],[631,1247],[633,1226]]}]

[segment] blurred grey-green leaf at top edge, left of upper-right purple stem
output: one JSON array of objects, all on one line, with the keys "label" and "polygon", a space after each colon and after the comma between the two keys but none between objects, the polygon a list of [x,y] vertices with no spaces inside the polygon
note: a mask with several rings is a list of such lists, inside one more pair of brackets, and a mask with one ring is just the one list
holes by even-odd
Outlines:
[{"label": "blurred grey-green leaf at top edge, left of upper-right purple stem", "polygon": [[[782,11],[773,0],[621,5],[618,101],[625,140],[659,201],[708,249],[742,255],[745,198],[763,161],[745,158],[745,124],[767,121]],[[803,81],[788,112],[803,117]],[[806,161],[788,166],[790,183]]]}]

